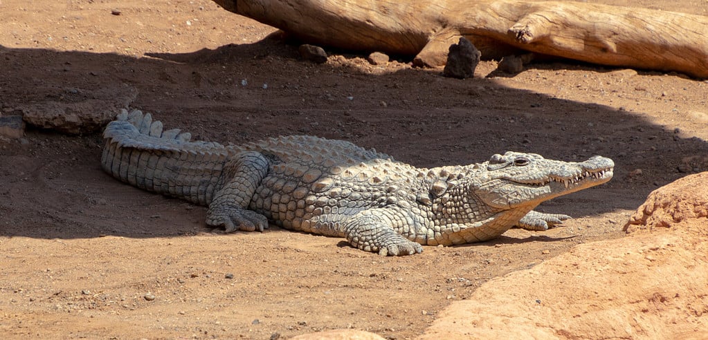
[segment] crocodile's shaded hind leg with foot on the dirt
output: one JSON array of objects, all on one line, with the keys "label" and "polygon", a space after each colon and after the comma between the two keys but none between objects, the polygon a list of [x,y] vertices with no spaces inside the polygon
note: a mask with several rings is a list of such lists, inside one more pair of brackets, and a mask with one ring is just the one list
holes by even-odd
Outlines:
[{"label": "crocodile's shaded hind leg with foot on the dirt", "polygon": [[241,153],[224,165],[224,185],[209,204],[207,225],[236,230],[263,231],[268,218],[247,210],[256,188],[268,173],[268,160],[258,152]]}]

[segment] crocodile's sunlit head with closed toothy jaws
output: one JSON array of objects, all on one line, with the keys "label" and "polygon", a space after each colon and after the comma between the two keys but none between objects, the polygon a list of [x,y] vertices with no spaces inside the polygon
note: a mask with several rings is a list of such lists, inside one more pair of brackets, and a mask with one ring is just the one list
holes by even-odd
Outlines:
[{"label": "crocodile's sunlit head with closed toothy jaws", "polygon": [[474,194],[493,209],[532,209],[542,201],[611,180],[614,167],[610,158],[600,156],[576,163],[509,151],[479,165]]}]

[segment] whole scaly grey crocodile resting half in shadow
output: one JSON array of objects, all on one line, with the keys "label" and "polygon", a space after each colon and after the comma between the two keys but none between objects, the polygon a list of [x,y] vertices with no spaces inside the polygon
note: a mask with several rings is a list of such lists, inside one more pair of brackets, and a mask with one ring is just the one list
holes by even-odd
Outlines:
[{"label": "whole scaly grey crocodile resting half in shadow", "polygon": [[515,225],[547,230],[570,216],[536,206],[609,181],[615,166],[600,156],[576,163],[508,151],[484,163],[415,168],[316,136],[224,146],[190,141],[139,110],[122,110],[103,137],[103,170],[208,206],[213,228],[263,231],[271,222],[389,256],[490,240]]}]

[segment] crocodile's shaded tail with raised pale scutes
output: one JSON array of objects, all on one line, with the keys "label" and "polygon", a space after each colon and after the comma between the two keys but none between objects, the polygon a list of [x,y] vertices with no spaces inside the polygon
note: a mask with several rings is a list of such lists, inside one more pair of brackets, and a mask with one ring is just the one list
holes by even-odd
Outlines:
[{"label": "crocodile's shaded tail with raised pale scutes", "polygon": [[162,129],[139,110],[122,110],[103,131],[105,172],[140,189],[208,205],[219,185],[227,148],[190,141],[188,132]]}]

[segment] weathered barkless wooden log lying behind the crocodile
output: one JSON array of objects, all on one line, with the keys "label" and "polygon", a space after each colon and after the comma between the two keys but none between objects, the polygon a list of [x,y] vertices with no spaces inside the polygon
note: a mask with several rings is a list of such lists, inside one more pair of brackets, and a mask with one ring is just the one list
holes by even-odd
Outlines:
[{"label": "weathered barkless wooden log lying behind the crocodile", "polygon": [[708,78],[708,17],[562,1],[214,0],[309,43],[416,55],[442,66],[467,37],[482,57],[510,49]]}]

